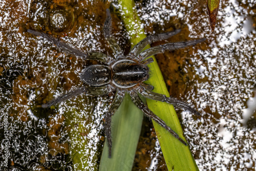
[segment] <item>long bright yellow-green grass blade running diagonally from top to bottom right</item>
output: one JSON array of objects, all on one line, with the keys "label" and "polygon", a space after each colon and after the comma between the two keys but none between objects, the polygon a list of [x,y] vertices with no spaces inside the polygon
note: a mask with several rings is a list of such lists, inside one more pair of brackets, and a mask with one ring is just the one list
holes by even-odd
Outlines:
[{"label": "long bright yellow-green grass blade running diagonally from top to bottom right", "polygon": [[[140,19],[138,18],[136,12],[133,10],[133,1],[120,1],[123,15],[123,21],[125,28],[138,29],[131,27],[131,22],[134,22],[135,26],[141,26]],[[129,27],[126,27],[129,25]],[[131,31],[127,29],[128,31]],[[144,31],[143,31],[144,32]],[[143,33],[140,31],[140,33]],[[155,57],[154,63],[151,63],[151,71],[153,73],[150,80],[147,81],[155,87],[154,92],[164,94],[169,97],[162,73],[158,67]],[[146,99],[148,108],[152,110],[156,115],[162,118],[168,126],[170,126],[181,138],[183,137],[183,132],[177,114],[174,110],[173,105]],[[162,149],[162,153],[167,165],[168,170],[198,170],[197,164],[190,152],[189,146],[183,145],[179,140],[174,138],[170,133],[168,133],[162,126],[153,121],[158,140]]]}]

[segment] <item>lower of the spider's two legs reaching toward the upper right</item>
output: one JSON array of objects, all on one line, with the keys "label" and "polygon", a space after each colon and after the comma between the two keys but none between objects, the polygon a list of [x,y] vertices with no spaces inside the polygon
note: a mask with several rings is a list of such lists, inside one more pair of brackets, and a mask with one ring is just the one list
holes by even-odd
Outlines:
[{"label": "lower of the spider's two legs reaching toward the upper right", "polygon": [[159,45],[152,47],[150,49],[146,49],[140,53],[140,56],[143,59],[150,57],[152,55],[158,54],[158,53],[164,53],[164,51],[172,51],[176,49],[185,48],[187,46],[194,46],[202,41],[204,41],[205,38],[197,39],[197,40],[190,40],[190,41],[182,41],[182,42],[174,42],[164,45]]}]

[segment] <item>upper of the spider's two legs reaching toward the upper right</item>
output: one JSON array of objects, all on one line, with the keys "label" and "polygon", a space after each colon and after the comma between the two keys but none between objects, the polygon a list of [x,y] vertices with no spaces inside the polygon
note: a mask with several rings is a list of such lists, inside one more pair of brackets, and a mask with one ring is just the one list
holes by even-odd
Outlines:
[{"label": "upper of the spider's two legs reaching toward the upper right", "polygon": [[160,40],[164,40],[164,39],[167,39],[169,37],[172,37],[173,35],[178,34],[180,31],[181,31],[180,29],[177,29],[177,30],[172,31],[172,32],[166,32],[166,33],[161,33],[161,34],[153,34],[153,35],[147,36],[146,38],[144,38],[143,40],[138,42],[138,44],[133,47],[133,49],[129,53],[129,56],[135,56],[135,58],[137,58],[139,53],[148,44],[152,44],[152,42],[160,41]]}]

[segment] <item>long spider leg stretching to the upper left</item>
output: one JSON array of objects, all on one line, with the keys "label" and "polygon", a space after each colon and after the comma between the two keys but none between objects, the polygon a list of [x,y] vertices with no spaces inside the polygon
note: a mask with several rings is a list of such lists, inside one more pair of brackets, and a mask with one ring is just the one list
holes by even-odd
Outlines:
[{"label": "long spider leg stretching to the upper left", "polygon": [[34,34],[35,36],[41,36],[46,38],[48,41],[50,41],[52,44],[56,45],[57,48],[61,51],[64,51],[68,54],[71,55],[75,55],[76,57],[80,57],[82,59],[86,59],[86,60],[99,60],[102,61],[104,63],[107,63],[110,61],[110,57],[108,55],[105,55],[103,53],[99,53],[99,52],[81,52],[77,49],[74,49],[72,47],[70,47],[69,45],[65,44],[65,42],[62,42],[56,38],[54,38],[51,35],[48,35],[46,33],[42,33],[42,32],[38,32],[38,31],[34,31],[34,30],[28,30],[29,33]]}]

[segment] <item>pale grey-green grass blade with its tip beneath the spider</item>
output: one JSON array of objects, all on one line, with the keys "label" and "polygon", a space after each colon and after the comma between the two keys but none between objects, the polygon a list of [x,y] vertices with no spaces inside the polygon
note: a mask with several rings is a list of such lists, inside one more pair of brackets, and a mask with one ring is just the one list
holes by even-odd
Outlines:
[{"label": "pale grey-green grass blade with its tip beneath the spider", "polygon": [[112,156],[105,141],[99,170],[131,170],[136,153],[143,120],[142,112],[136,108],[128,94],[112,117]]}]

